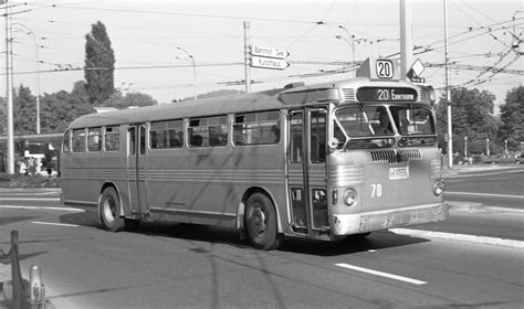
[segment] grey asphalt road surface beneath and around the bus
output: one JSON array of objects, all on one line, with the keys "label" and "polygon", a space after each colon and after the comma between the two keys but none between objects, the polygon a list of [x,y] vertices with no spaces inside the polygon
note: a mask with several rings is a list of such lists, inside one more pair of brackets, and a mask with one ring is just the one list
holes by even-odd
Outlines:
[{"label": "grey asphalt road surface beneath and around the bus", "polygon": [[[501,238],[478,237],[479,217]],[[0,248],[18,230],[22,269],[40,265],[56,308],[523,308],[523,242],[513,235],[522,227],[496,232],[510,219],[524,214],[453,209],[442,224],[260,252],[224,228],[108,233],[93,209],[64,207],[55,192],[1,192]]]}]

